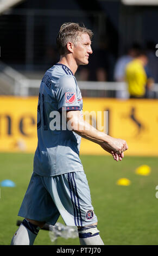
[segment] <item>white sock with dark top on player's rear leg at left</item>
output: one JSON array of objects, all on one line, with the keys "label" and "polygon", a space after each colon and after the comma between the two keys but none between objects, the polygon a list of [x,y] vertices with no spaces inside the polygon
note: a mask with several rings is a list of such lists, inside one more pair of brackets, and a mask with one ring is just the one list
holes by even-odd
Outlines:
[{"label": "white sock with dark top on player's rear leg at left", "polygon": [[[20,224],[20,227],[17,229],[16,233],[12,237],[10,245],[33,245],[34,244],[35,238],[40,228],[38,228],[37,226],[27,221],[29,223],[29,226],[28,226],[29,229],[28,229],[26,225],[27,223],[26,221],[27,220],[24,220],[24,224],[22,223]],[[32,228],[32,231],[30,231],[30,227]],[[35,234],[36,229],[37,229],[37,232]]]}]

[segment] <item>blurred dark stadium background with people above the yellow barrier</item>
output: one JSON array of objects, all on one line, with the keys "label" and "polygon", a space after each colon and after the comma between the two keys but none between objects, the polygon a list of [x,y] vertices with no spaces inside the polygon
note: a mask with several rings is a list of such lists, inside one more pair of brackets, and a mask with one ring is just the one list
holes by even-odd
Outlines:
[{"label": "blurred dark stadium background with people above the yellow barrier", "polygon": [[[0,4],[1,94],[18,94],[18,81],[14,88],[9,84],[18,72],[21,82],[26,78],[31,84],[21,95],[37,95],[33,83],[59,61],[56,34],[61,24],[79,22],[94,33],[89,65],[80,66],[75,74],[78,81],[86,82],[81,87],[83,96],[157,99],[158,1],[13,2],[17,4],[2,11]],[[6,72],[7,67],[12,72]],[[93,84],[97,92],[91,81],[99,82]]]}]

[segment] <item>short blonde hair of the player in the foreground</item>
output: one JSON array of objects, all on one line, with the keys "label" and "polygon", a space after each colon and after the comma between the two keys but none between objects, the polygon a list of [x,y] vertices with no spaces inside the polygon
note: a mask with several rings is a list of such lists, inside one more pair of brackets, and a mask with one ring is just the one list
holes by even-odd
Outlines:
[{"label": "short blonde hair of the player in the foreground", "polygon": [[56,44],[61,55],[65,54],[66,45],[69,41],[75,45],[80,34],[88,34],[90,39],[93,36],[93,32],[90,29],[87,29],[84,25],[79,26],[78,23],[74,22],[67,22],[61,25],[56,38]]}]

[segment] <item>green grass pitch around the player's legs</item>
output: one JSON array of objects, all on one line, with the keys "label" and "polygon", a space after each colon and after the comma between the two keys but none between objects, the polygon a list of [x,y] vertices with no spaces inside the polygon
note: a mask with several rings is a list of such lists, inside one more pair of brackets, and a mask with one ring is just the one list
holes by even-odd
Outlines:
[{"label": "green grass pitch around the player's legs", "polygon": [[[80,156],[89,181],[92,205],[98,217],[98,229],[105,245],[157,245],[158,160],[156,157],[125,157],[122,162],[111,156]],[[1,178],[16,187],[1,187],[0,245],[9,245],[17,226],[17,216],[33,168],[33,154],[1,153]],[[135,174],[141,164],[151,167],[149,176]],[[130,186],[118,186],[119,178],[128,178]],[[58,222],[64,223],[59,218]],[[40,230],[35,245],[53,245],[49,231]],[[57,245],[79,245],[78,239],[59,237]]]}]

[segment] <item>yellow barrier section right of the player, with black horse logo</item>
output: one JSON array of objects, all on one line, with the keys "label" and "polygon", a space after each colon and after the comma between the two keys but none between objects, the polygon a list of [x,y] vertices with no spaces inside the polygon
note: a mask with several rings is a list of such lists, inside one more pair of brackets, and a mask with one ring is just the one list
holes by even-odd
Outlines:
[{"label": "yellow barrier section right of the player, with black horse logo", "polygon": [[[109,111],[109,135],[125,139],[126,155],[158,156],[158,101],[84,99],[86,111]],[[99,145],[82,139],[82,154],[107,154]]]}]

